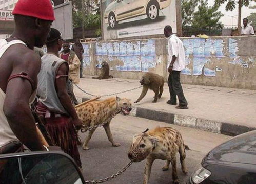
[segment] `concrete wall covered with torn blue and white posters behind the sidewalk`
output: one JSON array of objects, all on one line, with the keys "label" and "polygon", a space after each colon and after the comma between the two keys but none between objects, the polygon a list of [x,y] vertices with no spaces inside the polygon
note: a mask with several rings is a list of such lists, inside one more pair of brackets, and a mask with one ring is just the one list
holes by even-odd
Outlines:
[{"label": "concrete wall covered with torn blue and white posters behind the sidewalk", "polygon": [[[256,90],[256,36],[181,38],[186,68],[182,82]],[[140,79],[144,72],[168,77],[167,39],[83,43],[84,74],[99,75],[107,61],[114,77]]]}]

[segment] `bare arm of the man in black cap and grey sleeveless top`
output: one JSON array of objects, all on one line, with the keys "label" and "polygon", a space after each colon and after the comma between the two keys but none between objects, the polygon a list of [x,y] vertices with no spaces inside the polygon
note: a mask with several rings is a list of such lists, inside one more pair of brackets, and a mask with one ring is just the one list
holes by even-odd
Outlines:
[{"label": "bare arm of the man in black cap and grey sleeveless top", "polygon": [[68,78],[67,75],[68,75],[68,64],[63,63],[57,71],[57,76],[59,76],[56,78],[57,95],[63,107],[71,116],[76,129],[80,129],[82,126],[82,122],[79,120],[76,114],[75,108],[71,102],[71,99],[67,91],[67,78]]}]

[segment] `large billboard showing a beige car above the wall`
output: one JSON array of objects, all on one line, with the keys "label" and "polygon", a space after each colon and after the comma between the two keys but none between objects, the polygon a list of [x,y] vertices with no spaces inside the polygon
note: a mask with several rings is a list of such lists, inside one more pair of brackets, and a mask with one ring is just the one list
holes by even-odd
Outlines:
[{"label": "large billboard showing a beige car above the wall", "polygon": [[176,32],[175,0],[102,0],[105,40]]}]

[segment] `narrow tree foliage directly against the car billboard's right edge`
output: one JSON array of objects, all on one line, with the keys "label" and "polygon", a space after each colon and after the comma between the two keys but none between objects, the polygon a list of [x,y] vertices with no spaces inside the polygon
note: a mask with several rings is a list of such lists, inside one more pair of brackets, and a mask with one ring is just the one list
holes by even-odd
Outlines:
[{"label": "narrow tree foliage directly against the car billboard's right edge", "polygon": [[198,0],[182,0],[181,4],[182,26],[191,26],[195,8],[198,6]]}]

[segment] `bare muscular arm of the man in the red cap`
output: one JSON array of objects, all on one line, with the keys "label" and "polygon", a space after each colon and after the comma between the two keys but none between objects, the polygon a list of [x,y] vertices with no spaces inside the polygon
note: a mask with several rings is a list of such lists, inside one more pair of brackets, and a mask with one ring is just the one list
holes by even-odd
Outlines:
[{"label": "bare muscular arm of the man in the red cap", "polygon": [[[14,60],[11,76],[26,72],[36,86],[41,59],[31,52]],[[11,79],[7,84],[3,110],[13,133],[24,145],[31,151],[45,150],[41,137],[36,132],[35,120],[30,110],[31,94],[32,85],[27,79]]]}]

